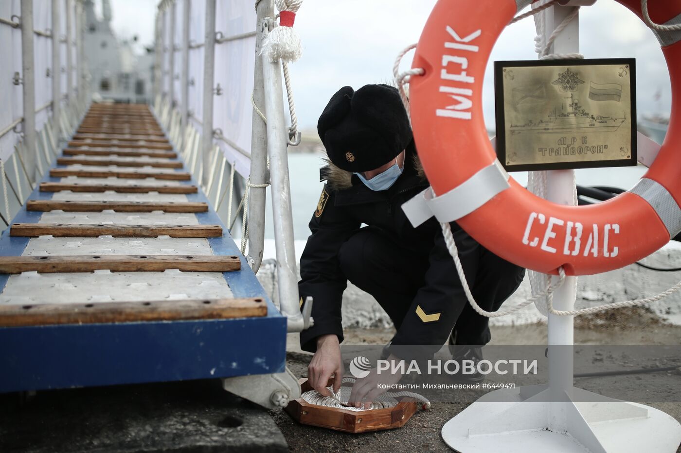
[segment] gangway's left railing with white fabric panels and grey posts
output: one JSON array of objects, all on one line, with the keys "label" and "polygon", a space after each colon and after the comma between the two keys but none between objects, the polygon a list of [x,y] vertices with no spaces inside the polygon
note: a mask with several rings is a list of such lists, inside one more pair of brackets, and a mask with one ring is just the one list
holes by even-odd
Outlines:
[{"label": "gangway's left railing with white fabric panels and grey posts", "polygon": [[0,2],[2,229],[50,168],[89,103],[83,27],[82,0]]}]

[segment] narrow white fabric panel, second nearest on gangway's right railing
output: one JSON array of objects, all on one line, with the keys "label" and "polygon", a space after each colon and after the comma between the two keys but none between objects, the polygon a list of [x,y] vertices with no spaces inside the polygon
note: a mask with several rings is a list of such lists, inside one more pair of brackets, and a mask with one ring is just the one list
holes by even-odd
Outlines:
[{"label": "narrow white fabric panel, second nearest on gangway's right railing", "polygon": [[[189,43],[202,44],[205,38],[206,0],[190,0],[191,15],[189,17]],[[204,93],[204,48],[189,49],[189,112],[192,114],[193,125],[201,129],[201,124],[196,122],[203,118],[203,93]]]}]

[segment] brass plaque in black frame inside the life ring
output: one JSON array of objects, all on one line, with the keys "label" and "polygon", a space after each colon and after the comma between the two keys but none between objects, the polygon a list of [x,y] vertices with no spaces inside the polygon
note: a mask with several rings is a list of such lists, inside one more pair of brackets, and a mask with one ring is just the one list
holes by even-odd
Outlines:
[{"label": "brass plaque in black frame inside the life ring", "polygon": [[494,86],[508,171],[637,165],[634,58],[496,61]]}]

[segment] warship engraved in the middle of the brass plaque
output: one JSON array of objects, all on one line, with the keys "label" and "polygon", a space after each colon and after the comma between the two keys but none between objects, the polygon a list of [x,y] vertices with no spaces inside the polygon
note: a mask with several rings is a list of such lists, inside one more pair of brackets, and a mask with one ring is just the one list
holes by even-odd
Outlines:
[{"label": "warship engraved in the middle of the brass plaque", "polygon": [[627,114],[623,114],[622,118],[613,118],[612,116],[594,115],[586,112],[573,93],[570,93],[570,97],[563,99],[569,99],[567,112],[565,106],[561,105],[560,112],[555,108],[546,119],[529,120],[520,125],[511,124],[509,128],[511,134],[528,132],[544,134],[613,132],[627,120]]}]

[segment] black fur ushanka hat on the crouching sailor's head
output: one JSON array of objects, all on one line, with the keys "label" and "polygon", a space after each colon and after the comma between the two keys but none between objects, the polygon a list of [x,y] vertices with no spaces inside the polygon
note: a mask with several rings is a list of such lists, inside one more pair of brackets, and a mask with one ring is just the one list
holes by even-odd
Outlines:
[{"label": "black fur ushanka hat on the crouching sailor's head", "polygon": [[340,88],[319,116],[317,132],[331,162],[353,172],[385,165],[412,139],[397,88],[383,84]]}]

